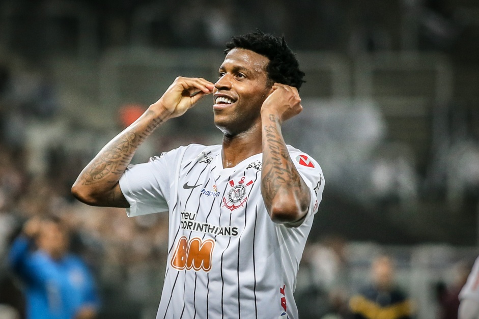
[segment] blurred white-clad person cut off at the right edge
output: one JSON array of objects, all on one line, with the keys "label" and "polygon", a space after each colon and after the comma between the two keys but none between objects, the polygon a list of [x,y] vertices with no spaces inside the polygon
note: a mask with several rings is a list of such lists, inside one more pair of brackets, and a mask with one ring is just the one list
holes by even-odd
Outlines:
[{"label": "blurred white-clad person cut off at the right edge", "polygon": [[459,319],[479,318],[479,257],[475,259],[474,266],[467,277],[466,284],[459,293]]}]

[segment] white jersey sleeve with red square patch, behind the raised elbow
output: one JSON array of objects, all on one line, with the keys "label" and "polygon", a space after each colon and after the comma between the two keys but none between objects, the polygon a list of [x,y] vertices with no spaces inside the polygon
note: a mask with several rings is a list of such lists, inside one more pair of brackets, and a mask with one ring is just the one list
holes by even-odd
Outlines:
[{"label": "white jersey sleeve with red square patch, behind the raised elbow", "polygon": [[309,188],[311,194],[311,200],[309,201],[309,208],[306,215],[306,219],[310,218],[316,212],[318,212],[318,206],[323,198],[324,189],[324,177],[323,171],[311,156],[302,152],[290,152],[291,159],[293,160],[299,175],[303,179]]}]

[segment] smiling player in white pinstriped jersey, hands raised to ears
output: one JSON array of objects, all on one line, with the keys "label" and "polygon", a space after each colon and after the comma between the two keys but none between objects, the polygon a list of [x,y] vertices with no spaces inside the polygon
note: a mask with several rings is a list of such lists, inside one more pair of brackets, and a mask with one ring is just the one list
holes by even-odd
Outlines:
[{"label": "smiling player in white pinstriped jersey, hands raised to ears", "polygon": [[[80,173],[73,194],[128,216],[170,213],[157,318],[296,318],[296,273],[322,198],[318,163],[285,144],[304,75],[284,39],[227,44],[219,78],[177,78]],[[127,167],[160,124],[213,94],[222,145],[191,144]]]}]

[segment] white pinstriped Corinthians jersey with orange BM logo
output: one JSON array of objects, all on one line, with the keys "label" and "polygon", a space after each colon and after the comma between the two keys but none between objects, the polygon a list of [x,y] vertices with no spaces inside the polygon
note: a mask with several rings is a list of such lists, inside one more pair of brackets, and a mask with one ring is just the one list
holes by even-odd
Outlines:
[{"label": "white pinstriped Corinthians jersey with orange BM logo", "polygon": [[170,213],[157,319],[298,317],[296,274],[324,179],[314,159],[288,151],[311,192],[305,220],[291,228],[266,211],[262,154],[223,168],[220,145],[191,144],[128,167],[128,216]]}]

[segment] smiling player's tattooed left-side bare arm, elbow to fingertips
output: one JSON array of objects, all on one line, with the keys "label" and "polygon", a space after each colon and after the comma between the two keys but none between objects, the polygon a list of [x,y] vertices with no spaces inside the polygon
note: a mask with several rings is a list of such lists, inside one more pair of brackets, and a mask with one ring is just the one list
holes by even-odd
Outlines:
[{"label": "smiling player's tattooed left-side bare arm, elbow to fingertips", "polygon": [[128,208],[119,180],[140,144],[159,125],[179,117],[200,98],[212,93],[213,87],[213,83],[203,78],[177,77],[157,102],[110,140],[82,170],[73,184],[73,195],[89,205]]}]

